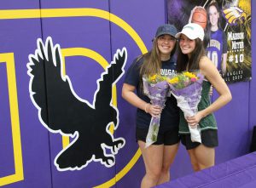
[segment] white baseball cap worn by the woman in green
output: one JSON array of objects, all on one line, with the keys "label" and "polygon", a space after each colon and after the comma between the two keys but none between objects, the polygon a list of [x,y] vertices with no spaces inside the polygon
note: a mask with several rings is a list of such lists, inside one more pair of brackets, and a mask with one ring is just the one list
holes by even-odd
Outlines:
[{"label": "white baseball cap worn by the woman in green", "polygon": [[203,28],[195,23],[189,23],[185,26],[183,26],[183,30],[178,32],[175,37],[179,38],[181,34],[184,34],[185,36],[189,37],[189,39],[194,40],[195,38],[200,38],[201,41],[203,41],[205,32]]}]

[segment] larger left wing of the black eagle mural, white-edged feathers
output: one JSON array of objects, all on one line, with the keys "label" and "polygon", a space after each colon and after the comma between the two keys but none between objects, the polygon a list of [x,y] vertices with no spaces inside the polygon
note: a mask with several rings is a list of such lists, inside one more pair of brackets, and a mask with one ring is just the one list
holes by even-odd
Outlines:
[{"label": "larger left wing of the black eagle mural, white-edged feathers", "polygon": [[58,44],[53,47],[51,37],[45,45],[38,39],[38,49],[29,55],[27,68],[30,96],[44,127],[51,132],[74,134],[88,122],[86,117],[93,108],[75,94],[69,77],[62,74],[61,49]]}]

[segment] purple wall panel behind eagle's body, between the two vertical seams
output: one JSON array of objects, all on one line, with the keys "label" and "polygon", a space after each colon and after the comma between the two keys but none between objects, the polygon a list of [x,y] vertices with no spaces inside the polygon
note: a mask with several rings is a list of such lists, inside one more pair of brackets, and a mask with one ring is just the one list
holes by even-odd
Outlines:
[{"label": "purple wall panel behind eagle's body, between the two vertical seams", "polygon": [[[42,1],[42,9],[53,8],[94,8],[108,11],[108,1]],[[110,63],[109,21],[98,17],[80,16],[47,18],[42,20],[43,37],[52,37],[53,43],[61,48],[88,48],[101,54]],[[96,92],[96,80],[104,69],[96,60],[87,56],[71,56],[65,58],[66,73],[73,83],[74,91],[84,100],[92,104]],[[86,116],[86,115],[84,115]],[[54,117],[49,114],[49,121]],[[93,124],[84,126],[94,126]],[[93,143],[88,143],[91,145]],[[115,166],[106,168],[100,162],[90,162],[85,168],[60,172],[54,165],[56,155],[61,151],[61,134],[50,133],[50,150],[53,187],[93,187],[102,185],[115,175]],[[87,145],[84,145],[87,150]]]}]

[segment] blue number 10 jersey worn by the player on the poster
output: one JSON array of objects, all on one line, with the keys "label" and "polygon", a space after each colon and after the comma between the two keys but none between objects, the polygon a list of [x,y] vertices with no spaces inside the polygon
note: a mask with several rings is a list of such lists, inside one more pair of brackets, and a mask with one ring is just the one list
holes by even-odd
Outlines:
[{"label": "blue number 10 jersey worn by the player on the poster", "polygon": [[227,39],[224,31],[211,31],[211,40],[207,46],[207,56],[218,71],[221,70],[222,54],[227,53]]}]

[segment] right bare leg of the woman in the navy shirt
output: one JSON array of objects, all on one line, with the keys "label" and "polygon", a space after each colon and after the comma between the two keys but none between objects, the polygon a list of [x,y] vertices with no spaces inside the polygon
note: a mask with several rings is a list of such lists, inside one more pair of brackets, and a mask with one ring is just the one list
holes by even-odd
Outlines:
[{"label": "right bare leg of the woman in the navy shirt", "polygon": [[161,169],[160,179],[158,180],[157,185],[170,181],[170,167],[177,154],[177,148],[178,144],[164,146],[163,166]]}]

